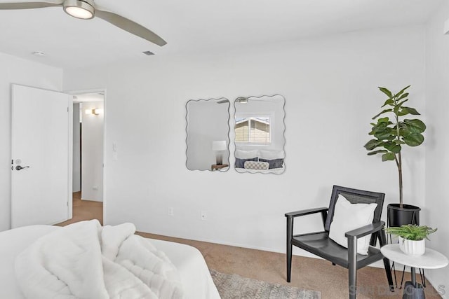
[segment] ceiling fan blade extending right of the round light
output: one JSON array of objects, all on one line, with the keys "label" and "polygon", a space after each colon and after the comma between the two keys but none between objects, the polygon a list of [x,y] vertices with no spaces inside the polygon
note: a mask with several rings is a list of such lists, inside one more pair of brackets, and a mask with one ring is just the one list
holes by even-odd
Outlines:
[{"label": "ceiling fan blade extending right of the round light", "polygon": [[103,19],[116,27],[119,27],[131,34],[140,36],[142,39],[146,39],[147,41],[151,41],[152,43],[156,43],[158,46],[163,46],[167,42],[164,41],[161,36],[155,34],[151,30],[139,25],[136,22],[128,20],[127,18],[123,18],[121,15],[117,15],[115,13],[111,13],[109,11],[100,11],[98,8],[95,8],[95,17]]}]

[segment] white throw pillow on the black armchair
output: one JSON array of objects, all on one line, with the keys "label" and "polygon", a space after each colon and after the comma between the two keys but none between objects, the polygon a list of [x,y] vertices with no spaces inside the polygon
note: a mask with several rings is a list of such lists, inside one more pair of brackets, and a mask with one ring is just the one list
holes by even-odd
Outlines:
[{"label": "white throw pillow on the black armchair", "polygon": [[[335,203],[334,218],[330,223],[329,237],[338,244],[348,247],[348,239],[344,237],[349,230],[361,228],[373,223],[374,210],[377,204],[351,204],[344,196],[338,195]],[[370,246],[370,236],[357,239],[357,253],[367,255]]]}]

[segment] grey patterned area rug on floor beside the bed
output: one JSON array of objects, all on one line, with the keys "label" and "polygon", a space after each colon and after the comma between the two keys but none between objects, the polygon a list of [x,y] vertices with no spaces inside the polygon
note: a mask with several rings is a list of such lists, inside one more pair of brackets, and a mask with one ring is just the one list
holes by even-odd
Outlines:
[{"label": "grey patterned area rug on floor beside the bed", "polygon": [[320,299],[318,291],[304,290],[294,286],[283,286],[266,281],[223,274],[210,269],[215,286],[222,299]]}]

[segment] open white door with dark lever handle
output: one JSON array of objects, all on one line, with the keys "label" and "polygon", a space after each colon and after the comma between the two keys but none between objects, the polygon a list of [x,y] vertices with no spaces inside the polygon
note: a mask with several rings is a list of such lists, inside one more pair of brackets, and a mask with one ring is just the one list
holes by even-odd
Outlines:
[{"label": "open white door with dark lever handle", "polygon": [[12,85],[12,228],[69,218],[70,105],[72,96],[64,93]]}]

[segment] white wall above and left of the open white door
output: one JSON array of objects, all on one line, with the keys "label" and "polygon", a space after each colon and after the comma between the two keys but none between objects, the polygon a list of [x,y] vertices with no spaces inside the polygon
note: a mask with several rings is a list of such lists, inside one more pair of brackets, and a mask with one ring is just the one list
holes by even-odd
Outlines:
[{"label": "white wall above and left of the open white door", "polygon": [[11,228],[11,83],[61,90],[62,69],[0,53],[0,230]]}]

